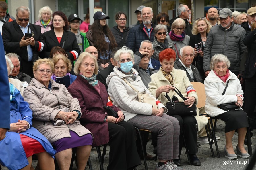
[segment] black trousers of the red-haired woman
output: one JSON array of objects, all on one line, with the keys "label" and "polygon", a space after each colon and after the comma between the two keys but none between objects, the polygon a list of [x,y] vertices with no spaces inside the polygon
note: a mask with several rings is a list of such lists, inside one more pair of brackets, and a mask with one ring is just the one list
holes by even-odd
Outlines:
[{"label": "black trousers of the red-haired woman", "polygon": [[197,150],[197,121],[194,116],[180,116],[172,115],[179,121],[180,135],[179,135],[179,155],[181,154],[183,145],[183,136],[185,138],[185,143],[187,145],[187,150],[189,154],[196,154]]}]

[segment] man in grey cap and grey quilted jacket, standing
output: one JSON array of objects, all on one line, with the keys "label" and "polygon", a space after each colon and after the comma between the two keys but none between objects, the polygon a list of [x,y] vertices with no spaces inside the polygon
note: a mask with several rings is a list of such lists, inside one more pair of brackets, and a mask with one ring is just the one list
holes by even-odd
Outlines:
[{"label": "man in grey cap and grey quilted jacket, standing", "polygon": [[205,76],[210,72],[210,60],[215,54],[223,54],[230,60],[229,70],[239,76],[239,66],[245,45],[243,40],[245,30],[233,23],[232,11],[223,8],[219,12],[220,25],[210,29],[204,47],[204,71]]}]

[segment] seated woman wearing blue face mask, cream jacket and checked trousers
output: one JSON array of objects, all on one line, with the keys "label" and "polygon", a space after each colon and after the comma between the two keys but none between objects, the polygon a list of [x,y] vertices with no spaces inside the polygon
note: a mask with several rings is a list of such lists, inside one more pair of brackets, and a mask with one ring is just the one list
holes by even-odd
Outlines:
[{"label": "seated woman wearing blue face mask, cream jacket and checked trousers", "polygon": [[[179,169],[173,159],[179,156],[179,122],[176,118],[168,116],[167,108],[158,101],[143,84],[138,72],[132,68],[134,63],[133,51],[123,46],[115,53],[114,59],[118,65],[107,77],[108,94],[113,104],[125,114],[125,121],[139,129],[150,130],[157,134],[157,155],[159,169]],[[155,104],[141,103],[138,101],[137,92],[149,94]],[[155,107],[153,108],[153,104]]]}]

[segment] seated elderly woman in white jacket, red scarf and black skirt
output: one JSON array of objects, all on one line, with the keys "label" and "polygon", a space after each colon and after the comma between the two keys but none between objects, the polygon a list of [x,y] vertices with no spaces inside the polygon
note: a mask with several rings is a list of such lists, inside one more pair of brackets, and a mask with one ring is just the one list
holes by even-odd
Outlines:
[{"label": "seated elderly woman in white jacket, red scarf and black skirt", "polygon": [[[223,54],[215,54],[210,62],[210,73],[205,78],[205,112],[211,117],[223,120],[226,123],[224,148],[225,157],[236,159],[237,156],[249,158],[243,144],[247,127],[247,115],[243,106],[243,91],[237,76],[228,70],[230,61]],[[228,108],[222,104],[228,104]],[[237,107],[236,107],[237,106]],[[235,130],[238,132],[237,155],[232,146],[232,137]]]}]

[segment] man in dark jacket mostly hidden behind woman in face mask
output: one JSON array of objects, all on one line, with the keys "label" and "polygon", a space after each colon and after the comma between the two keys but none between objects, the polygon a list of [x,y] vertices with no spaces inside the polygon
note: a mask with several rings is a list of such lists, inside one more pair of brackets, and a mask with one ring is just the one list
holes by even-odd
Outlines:
[{"label": "man in dark jacket mostly hidden behind woman in face mask", "polygon": [[114,67],[117,66],[117,61],[115,61],[114,56],[115,56],[115,53],[117,52],[117,50],[119,50],[119,49],[121,49],[121,47],[113,48],[113,50],[111,51],[111,54],[110,54],[111,64],[109,64],[108,67],[106,67],[104,70],[102,70],[96,76],[96,79],[99,80],[100,82],[102,82],[102,84],[105,85],[106,90],[108,90],[108,85],[106,83],[107,77],[108,77],[108,75],[110,75],[111,72],[114,71]]}]

